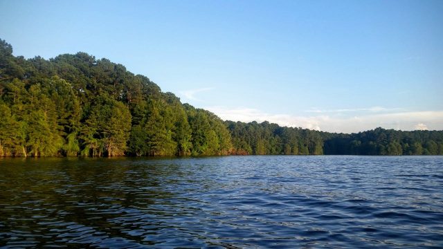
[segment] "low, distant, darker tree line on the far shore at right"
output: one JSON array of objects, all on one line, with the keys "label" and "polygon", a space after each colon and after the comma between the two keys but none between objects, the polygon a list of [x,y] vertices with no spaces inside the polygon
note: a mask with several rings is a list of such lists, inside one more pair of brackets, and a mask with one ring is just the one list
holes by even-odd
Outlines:
[{"label": "low, distant, darker tree line on the far shore at right", "polygon": [[269,122],[226,123],[237,154],[443,155],[443,131],[377,128],[343,134],[279,127]]}]

